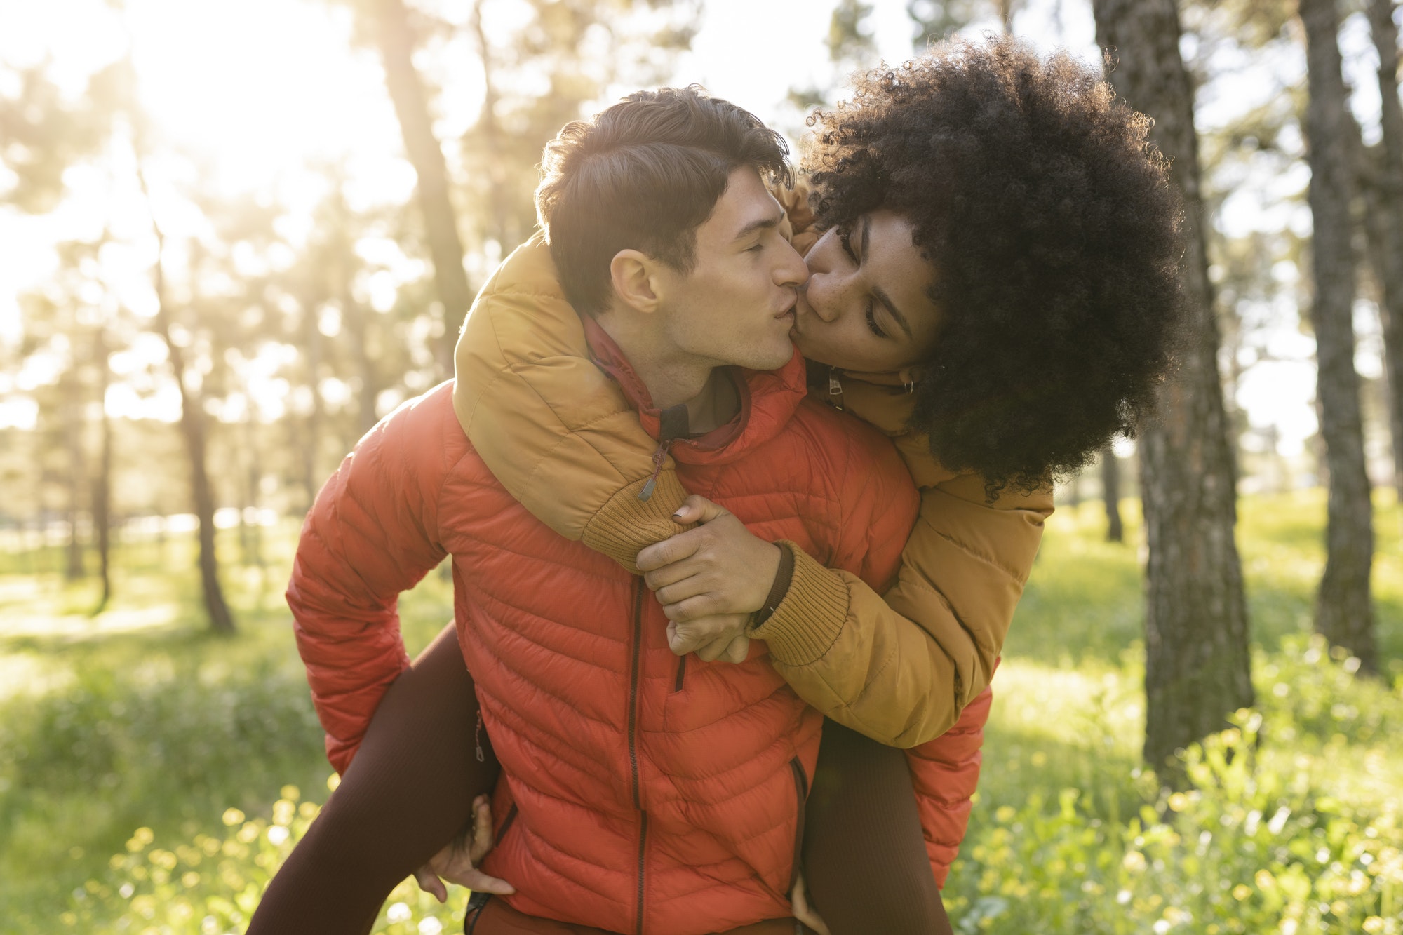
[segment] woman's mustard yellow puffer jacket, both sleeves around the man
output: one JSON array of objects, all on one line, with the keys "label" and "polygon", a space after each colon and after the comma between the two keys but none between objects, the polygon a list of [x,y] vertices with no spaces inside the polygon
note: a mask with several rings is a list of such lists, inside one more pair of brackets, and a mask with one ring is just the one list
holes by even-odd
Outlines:
[{"label": "woman's mustard yellow puffer jacket, both sleeves around the man", "polygon": [[[817,240],[803,191],[779,191],[793,243]],[[497,479],[556,532],[630,571],[638,550],[680,532],[687,491],[671,459],[651,498],[657,442],[616,393],[599,392],[584,329],[540,234],[513,254],[526,291],[484,289],[456,350],[453,407]],[[783,602],[753,632],[774,668],[824,715],[894,747],[940,736],[989,685],[1052,512],[1051,491],[985,498],[984,479],[941,469],[906,431],[894,376],[835,372],[842,409],[888,435],[920,489],[920,514],[884,595],[796,552]],[[825,402],[839,397],[821,394]]]}]

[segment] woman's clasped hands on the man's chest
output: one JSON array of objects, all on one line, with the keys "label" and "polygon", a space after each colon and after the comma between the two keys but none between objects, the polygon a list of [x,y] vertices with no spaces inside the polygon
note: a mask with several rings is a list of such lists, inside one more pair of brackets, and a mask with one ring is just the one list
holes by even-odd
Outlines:
[{"label": "woman's clasped hands on the man's chest", "polygon": [[714,661],[745,658],[745,630],[780,567],[780,548],[752,535],[706,497],[690,496],[673,514],[700,524],[638,553],[638,569],[668,616],[668,644]]}]

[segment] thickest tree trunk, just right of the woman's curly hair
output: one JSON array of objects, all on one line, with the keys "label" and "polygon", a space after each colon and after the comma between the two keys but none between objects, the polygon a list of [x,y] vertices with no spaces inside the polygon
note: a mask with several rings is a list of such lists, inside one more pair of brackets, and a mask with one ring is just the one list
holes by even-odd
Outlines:
[{"label": "thickest tree trunk, just right of the woman's curly hair", "polygon": [[[1179,52],[1174,0],[1093,0],[1096,39],[1118,65],[1107,76],[1155,119],[1184,199],[1181,271],[1188,320],[1177,378],[1160,392],[1139,438],[1148,546],[1145,760],[1181,782],[1174,751],[1226,726],[1253,703],[1247,605],[1233,528],[1236,469],[1218,373],[1218,320],[1208,279],[1194,90]],[[1167,772],[1164,769],[1167,768]]]}]

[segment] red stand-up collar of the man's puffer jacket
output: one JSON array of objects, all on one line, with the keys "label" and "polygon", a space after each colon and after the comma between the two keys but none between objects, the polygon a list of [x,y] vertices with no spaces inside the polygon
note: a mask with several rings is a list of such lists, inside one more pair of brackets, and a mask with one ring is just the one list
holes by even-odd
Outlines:
[{"label": "red stand-up collar of the man's puffer jacket", "polygon": [[[638,409],[638,421],[654,438],[659,437],[662,413],[652,404],[652,396],[623,351],[588,314],[579,316],[585,338],[595,364],[623,390]],[[756,446],[783,431],[807,392],[804,358],[798,351],[777,371],[748,371],[727,368],[741,396],[741,411],[725,425],[700,435],[672,442],[672,456],[683,463],[728,463],[742,458]]]}]

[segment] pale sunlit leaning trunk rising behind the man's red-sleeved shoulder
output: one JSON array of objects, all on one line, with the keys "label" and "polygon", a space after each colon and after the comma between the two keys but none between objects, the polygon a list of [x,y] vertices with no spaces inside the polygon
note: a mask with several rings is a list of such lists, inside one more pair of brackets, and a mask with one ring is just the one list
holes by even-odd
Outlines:
[{"label": "pale sunlit leaning trunk rising behind the man's red-sleeved shoulder", "polygon": [[414,35],[403,0],[375,0],[375,37],[384,63],[384,83],[400,119],[404,149],[418,175],[419,209],[429,256],[434,260],[434,284],[443,305],[443,334],[439,364],[445,376],[453,373],[453,344],[467,314],[473,293],[463,270],[463,243],[457,236],[457,213],[449,195],[448,164],[434,136],[424,81],[414,67]]}]

